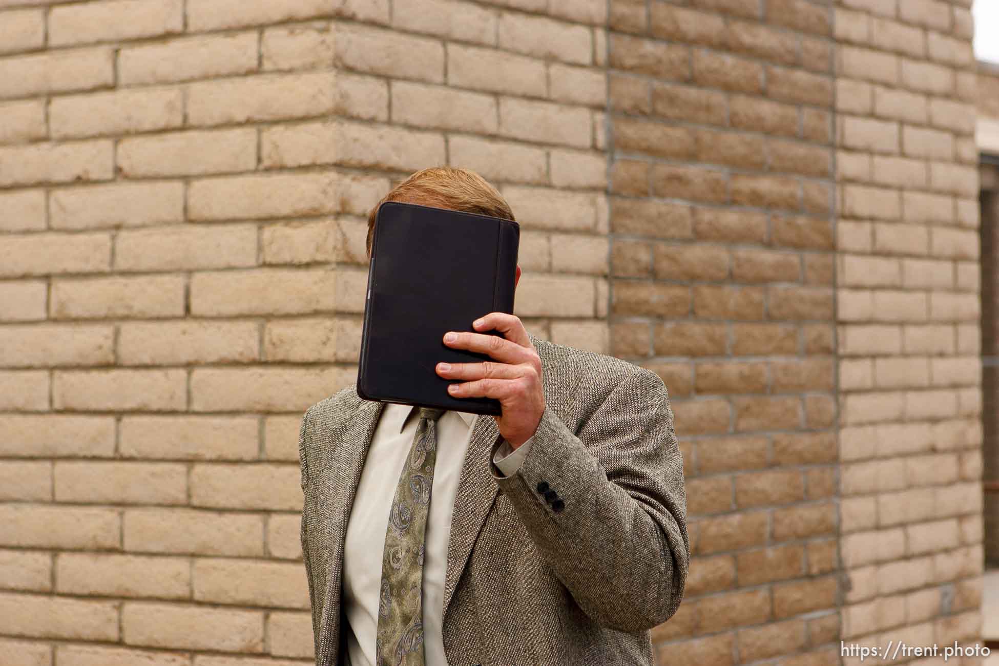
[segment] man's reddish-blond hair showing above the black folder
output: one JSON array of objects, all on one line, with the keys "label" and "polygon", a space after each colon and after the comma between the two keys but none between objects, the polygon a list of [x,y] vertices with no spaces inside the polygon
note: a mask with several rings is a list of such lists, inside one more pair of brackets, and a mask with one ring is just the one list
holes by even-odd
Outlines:
[{"label": "man's reddish-blond hair showing above the black folder", "polygon": [[476,172],[455,167],[423,169],[393,188],[368,214],[369,259],[375,239],[375,218],[387,201],[478,213],[515,222],[500,191]]}]

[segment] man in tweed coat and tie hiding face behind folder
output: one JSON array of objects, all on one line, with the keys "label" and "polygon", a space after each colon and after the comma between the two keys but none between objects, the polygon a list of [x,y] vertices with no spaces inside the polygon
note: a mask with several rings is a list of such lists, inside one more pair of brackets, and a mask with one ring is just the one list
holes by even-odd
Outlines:
[{"label": "man in tweed coat and tie hiding face behind folder", "polygon": [[[467,170],[424,170],[384,201],[513,220]],[[475,331],[502,337],[444,341],[493,362],[437,371],[455,396],[499,399],[500,416],[368,401],[352,384],[302,419],[316,663],[652,664],[649,629],[676,611],[689,560],[665,386],[631,363],[535,337],[511,315],[483,315]],[[407,476],[418,452],[429,501]],[[411,518],[419,529],[406,529]],[[399,580],[416,582],[404,594]]]}]

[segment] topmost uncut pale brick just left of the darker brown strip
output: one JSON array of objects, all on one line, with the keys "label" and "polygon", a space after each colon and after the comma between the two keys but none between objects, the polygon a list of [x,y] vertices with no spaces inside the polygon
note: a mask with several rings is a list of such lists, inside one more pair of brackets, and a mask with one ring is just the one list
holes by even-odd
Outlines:
[{"label": "topmost uncut pale brick just left of the darker brown strip", "polygon": [[584,26],[541,16],[501,13],[498,36],[501,49],[534,58],[579,65],[592,61],[592,33]]}]

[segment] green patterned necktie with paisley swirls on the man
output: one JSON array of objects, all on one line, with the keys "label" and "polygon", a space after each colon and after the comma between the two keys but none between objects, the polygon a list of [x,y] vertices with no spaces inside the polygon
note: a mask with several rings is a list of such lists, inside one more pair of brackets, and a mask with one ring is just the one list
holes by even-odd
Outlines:
[{"label": "green patterned necktie with paisley swirls on the man", "polygon": [[399,477],[382,555],[376,666],[424,665],[424,535],[437,461],[437,420],[444,409],[420,409],[420,424]]}]

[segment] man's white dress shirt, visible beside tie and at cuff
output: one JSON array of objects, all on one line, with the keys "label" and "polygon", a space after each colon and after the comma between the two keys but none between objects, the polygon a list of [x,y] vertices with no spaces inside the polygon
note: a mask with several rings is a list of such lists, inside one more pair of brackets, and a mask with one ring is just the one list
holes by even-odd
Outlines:
[{"label": "man's white dress shirt, visible beside tie and at cuff", "polygon": [[[442,632],[448,542],[458,481],[477,418],[478,414],[445,411],[437,422],[438,452],[424,541],[424,649],[428,666],[448,664]],[[376,663],[382,552],[389,511],[419,423],[419,407],[387,403],[361,472],[344,547],[343,603],[350,666]],[[526,457],[532,440],[527,439],[516,450],[503,441],[493,462],[503,474],[512,475]]]}]

